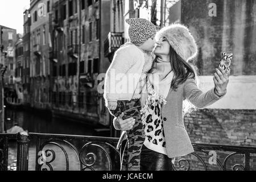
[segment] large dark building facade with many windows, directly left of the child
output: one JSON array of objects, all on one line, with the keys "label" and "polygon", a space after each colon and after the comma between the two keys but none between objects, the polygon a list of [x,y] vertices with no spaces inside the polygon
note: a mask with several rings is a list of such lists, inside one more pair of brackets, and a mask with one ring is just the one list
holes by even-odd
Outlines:
[{"label": "large dark building facade with many windows, directly left of the child", "polygon": [[51,7],[53,115],[108,125],[109,116],[101,114],[97,77],[108,64],[102,40],[110,30],[110,1],[52,1]]}]

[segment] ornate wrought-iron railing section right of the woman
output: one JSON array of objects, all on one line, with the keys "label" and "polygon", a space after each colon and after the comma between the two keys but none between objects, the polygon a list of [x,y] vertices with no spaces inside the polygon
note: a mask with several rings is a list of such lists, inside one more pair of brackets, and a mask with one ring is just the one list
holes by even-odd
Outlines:
[{"label": "ornate wrought-iron railing section right of the woman", "polygon": [[195,152],[176,158],[174,170],[256,170],[256,147],[193,144]]}]

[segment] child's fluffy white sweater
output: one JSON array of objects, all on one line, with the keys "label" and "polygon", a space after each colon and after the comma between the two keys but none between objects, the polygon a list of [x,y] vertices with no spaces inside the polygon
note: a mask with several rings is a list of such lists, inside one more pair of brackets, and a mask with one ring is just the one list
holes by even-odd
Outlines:
[{"label": "child's fluffy white sweater", "polygon": [[106,72],[105,101],[123,101],[140,98],[137,89],[145,64],[144,52],[132,43],[125,43],[113,57]]}]

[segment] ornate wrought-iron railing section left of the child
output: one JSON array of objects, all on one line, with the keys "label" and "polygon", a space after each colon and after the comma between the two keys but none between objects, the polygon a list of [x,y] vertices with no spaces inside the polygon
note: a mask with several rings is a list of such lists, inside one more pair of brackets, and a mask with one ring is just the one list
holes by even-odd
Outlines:
[{"label": "ornate wrought-iron railing section left of the child", "polygon": [[[120,170],[117,138],[56,134],[0,134],[0,171],[8,169],[9,142],[17,143],[16,169],[28,170],[28,159],[35,158],[36,171],[52,170]],[[35,143],[36,156],[28,156]],[[58,163],[56,160],[60,160]],[[65,168],[62,168],[65,166]]]}]

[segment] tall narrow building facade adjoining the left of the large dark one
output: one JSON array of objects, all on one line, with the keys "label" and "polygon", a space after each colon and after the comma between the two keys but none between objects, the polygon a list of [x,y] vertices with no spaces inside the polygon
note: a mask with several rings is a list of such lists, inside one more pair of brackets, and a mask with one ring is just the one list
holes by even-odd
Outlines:
[{"label": "tall narrow building facade adjoining the left of the large dark one", "polygon": [[30,104],[37,109],[50,109],[49,16],[50,1],[30,2]]}]

